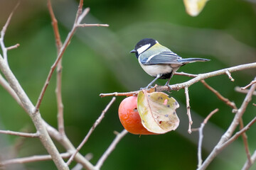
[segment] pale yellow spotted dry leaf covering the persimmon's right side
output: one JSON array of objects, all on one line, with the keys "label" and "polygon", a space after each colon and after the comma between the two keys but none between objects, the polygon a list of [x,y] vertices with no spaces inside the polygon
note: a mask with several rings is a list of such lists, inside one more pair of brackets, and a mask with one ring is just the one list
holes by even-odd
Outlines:
[{"label": "pale yellow spotted dry leaf covering the persimmon's right side", "polygon": [[142,125],[149,132],[166,133],[176,130],[179,124],[176,108],[178,102],[162,92],[147,93],[140,91],[137,108],[142,118]]}]

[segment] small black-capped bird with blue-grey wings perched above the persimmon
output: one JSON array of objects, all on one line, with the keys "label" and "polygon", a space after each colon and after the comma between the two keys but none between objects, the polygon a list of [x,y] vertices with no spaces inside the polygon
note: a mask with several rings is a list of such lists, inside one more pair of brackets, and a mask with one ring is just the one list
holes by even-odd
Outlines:
[{"label": "small black-capped bird with blue-grey wings perched above the persimmon", "polygon": [[203,58],[182,58],[169,48],[161,45],[157,40],[152,38],[144,38],[135,45],[134,50],[139,64],[144,71],[151,77],[155,77],[145,88],[149,89],[157,79],[168,79],[165,86],[169,85],[171,77],[183,65],[191,62],[208,62],[210,60]]}]

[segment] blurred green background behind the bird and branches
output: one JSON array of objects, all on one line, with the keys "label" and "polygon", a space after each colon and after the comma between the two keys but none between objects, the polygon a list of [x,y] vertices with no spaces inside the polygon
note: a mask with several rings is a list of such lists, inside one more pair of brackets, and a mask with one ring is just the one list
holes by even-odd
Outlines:
[{"label": "blurred green background behind the bird and branches", "polygon": [[[0,0],[0,26],[16,5],[16,0]],[[53,1],[64,41],[73,26],[78,1]],[[91,8],[84,23],[108,23],[109,28],[78,28],[63,56],[63,103],[66,134],[75,146],[105,108],[111,97],[99,94],[114,91],[134,91],[153,79],[129,54],[142,38],[154,38],[170,47],[181,57],[203,57],[211,61],[188,64],[179,72],[199,74],[256,60],[256,2],[242,0],[209,1],[197,17],[188,16],[183,1],[117,1],[89,0]],[[6,31],[6,46],[20,44],[9,51],[9,65],[23,89],[36,104],[50,66],[55,61],[56,48],[46,1],[23,0],[14,13]],[[206,79],[208,84],[240,107],[245,94],[234,91],[255,77],[256,69],[235,72],[230,81],[226,75]],[[187,81],[188,77],[174,76],[171,84]],[[165,84],[159,80],[157,84]],[[55,74],[50,81],[41,105],[42,117],[53,125],[56,121]],[[219,108],[204,130],[203,159],[216,145],[230,125],[234,114],[231,108],[201,83],[189,88],[193,128],[203,118]],[[180,126],[165,135],[126,135],[117,145],[102,169],[196,169],[198,132],[188,134],[186,98],[183,89],[170,96],[180,103],[177,114]],[[117,97],[102,123],[92,133],[81,153],[92,153],[95,164],[115,135],[122,131],[118,106],[124,97]],[[252,102],[256,103],[255,98]],[[255,117],[256,108],[250,105],[244,115],[247,124]],[[0,87],[0,129],[35,132],[33,123],[16,101]],[[250,152],[256,148],[256,125],[247,131]],[[57,144],[58,145],[58,144]],[[60,152],[65,152],[58,145]],[[0,134],[0,159],[47,154],[38,139],[23,139]],[[241,169],[246,161],[242,139],[221,152],[208,169]],[[73,164],[75,165],[75,164]],[[53,162],[36,162],[10,166],[9,169],[55,169]],[[256,169],[253,166],[252,169]]]}]

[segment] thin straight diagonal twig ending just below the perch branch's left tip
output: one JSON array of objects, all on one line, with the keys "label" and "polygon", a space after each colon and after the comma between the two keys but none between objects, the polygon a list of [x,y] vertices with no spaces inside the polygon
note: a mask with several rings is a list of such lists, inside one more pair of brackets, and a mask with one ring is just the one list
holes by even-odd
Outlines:
[{"label": "thin straight diagonal twig ending just below the perch branch's left tip", "polygon": [[87,135],[85,136],[85,138],[82,140],[82,142],[80,143],[80,145],[78,146],[78,148],[75,150],[75,152],[72,154],[72,156],[70,157],[70,159],[68,159],[67,164],[70,165],[70,163],[73,161],[75,154],[77,154],[80,149],[82,148],[83,145],[85,145],[85,142],[87,142],[88,138],[90,137],[90,135],[92,134],[93,130],[95,130],[95,128],[97,127],[97,125],[100,124],[101,120],[104,118],[105,113],[107,113],[108,109],[110,108],[110,106],[112,106],[112,103],[114,103],[115,101],[115,97],[112,98],[112,100],[110,101],[110,103],[107,104],[106,108],[102,111],[101,115],[99,118],[97,118],[97,120],[95,121],[95,123],[92,125],[92,128],[90,128],[89,132],[87,133]]}]

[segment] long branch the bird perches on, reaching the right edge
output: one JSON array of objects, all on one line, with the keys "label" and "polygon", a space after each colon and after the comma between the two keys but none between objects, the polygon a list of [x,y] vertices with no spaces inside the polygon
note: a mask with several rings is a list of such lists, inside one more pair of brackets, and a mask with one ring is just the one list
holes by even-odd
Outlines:
[{"label": "long branch the bird perches on, reaching the right edge", "polygon": [[[175,90],[178,91],[179,89],[184,89],[186,86],[191,86],[192,84],[197,83],[198,81],[201,81],[203,79],[207,79],[210,77],[215,77],[215,76],[219,76],[221,74],[226,74],[225,72],[228,70],[228,72],[238,72],[240,70],[244,70],[244,69],[252,69],[252,68],[256,68],[256,62],[250,63],[250,64],[241,64],[235,67],[229,67],[226,69],[220,69],[214,72],[208,72],[208,73],[204,73],[204,74],[198,74],[197,77],[188,80],[186,82],[183,82],[181,84],[173,84],[169,86],[157,86],[156,87],[156,91],[170,91],[171,90]],[[147,89],[148,90],[148,89]],[[139,93],[139,91],[130,91],[127,93],[118,93],[118,92],[114,92],[114,93],[110,93],[110,94],[100,94],[101,97],[105,97],[105,96],[132,96],[132,95],[137,95]]]}]

